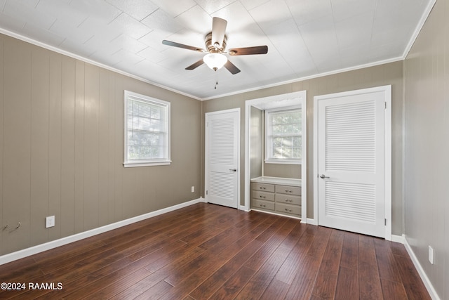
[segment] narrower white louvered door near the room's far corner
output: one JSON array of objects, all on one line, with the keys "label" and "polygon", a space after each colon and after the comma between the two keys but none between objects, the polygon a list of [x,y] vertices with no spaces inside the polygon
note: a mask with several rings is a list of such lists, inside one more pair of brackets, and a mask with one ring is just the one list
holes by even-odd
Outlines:
[{"label": "narrower white louvered door near the room's far corner", "polygon": [[206,202],[239,204],[240,111],[206,114]]}]

